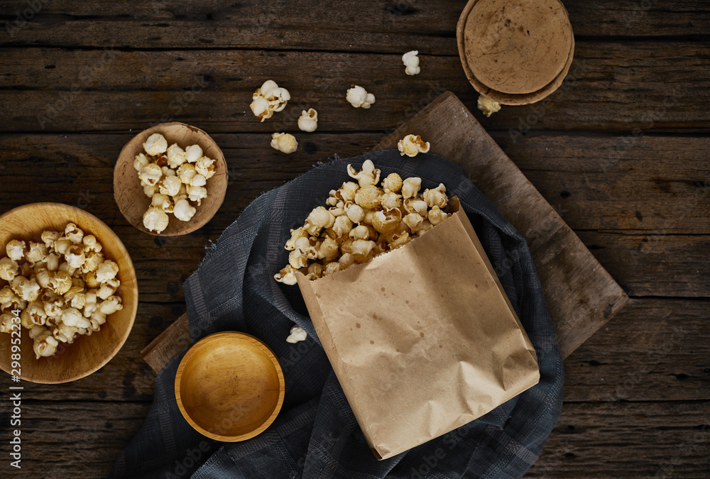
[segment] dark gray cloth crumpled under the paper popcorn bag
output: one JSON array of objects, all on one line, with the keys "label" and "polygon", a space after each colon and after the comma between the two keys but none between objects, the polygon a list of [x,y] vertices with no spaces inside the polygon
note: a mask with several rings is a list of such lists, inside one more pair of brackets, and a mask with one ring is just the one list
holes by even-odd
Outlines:
[{"label": "dark gray cloth crumpled under the paper popcorn bag", "polygon": [[[475,152],[471,152],[475,154]],[[283,244],[332,188],[350,180],[346,165],[367,158],[382,175],[422,177],[422,189],[447,187],[471,219],[540,363],[540,383],[452,433],[385,461],[366,445],[325,356],[297,286],[273,275],[288,263]],[[155,380],[155,402],[143,428],[114,466],[125,478],[519,478],[535,462],[562,409],[564,370],[525,239],[460,167],[436,155],[396,151],[337,159],[262,194],[227,228],[185,282],[195,341],[217,331],[245,331],[270,346],[283,365],[283,409],[261,435],[239,443],[201,436],[175,403],[182,354]],[[285,341],[297,323],[309,338]],[[393,404],[396,407],[396,404]]]}]

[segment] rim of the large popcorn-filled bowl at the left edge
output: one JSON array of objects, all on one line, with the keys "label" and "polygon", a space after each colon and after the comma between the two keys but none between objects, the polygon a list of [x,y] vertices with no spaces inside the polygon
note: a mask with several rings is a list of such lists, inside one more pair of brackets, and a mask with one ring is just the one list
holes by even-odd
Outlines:
[{"label": "rim of the large popcorn-filled bowl at the left edge", "polygon": [[[83,370],[80,373],[77,373],[76,375],[71,376],[70,378],[62,379],[62,380],[53,380],[53,379],[37,379],[37,378],[28,378],[26,375],[20,375],[20,378],[24,381],[28,382],[35,382],[37,384],[61,384],[64,382],[72,382],[77,379],[81,378],[86,378],[88,375],[92,373],[96,373],[97,370],[101,369],[104,367],[104,365],[107,365],[111,359],[116,356],[116,354],[121,351],[121,348],[124,346],[124,343],[126,343],[126,340],[129,338],[129,335],[131,334],[131,330],[133,329],[133,324],[136,321],[136,312],[138,312],[138,279],[136,277],[136,270],[133,268],[133,260],[131,260],[131,255],[129,255],[128,250],[126,250],[126,246],[124,246],[124,243],[121,241],[121,238],[119,238],[116,233],[109,228],[107,224],[105,224],[103,221],[98,219],[96,216],[93,214],[89,213],[88,211],[84,211],[83,209],[77,208],[77,207],[72,207],[69,204],[63,204],[63,203],[53,203],[53,202],[39,202],[39,203],[29,203],[29,204],[23,204],[22,206],[13,208],[9,211],[5,211],[3,214],[0,215],[0,224],[2,223],[2,220],[5,219],[7,216],[10,216],[11,214],[16,214],[18,212],[21,212],[23,209],[39,209],[43,207],[53,207],[53,208],[59,208],[59,209],[66,209],[67,211],[74,211],[75,213],[79,214],[80,216],[87,216],[89,219],[92,219],[93,221],[96,221],[99,224],[103,224],[108,231],[113,234],[111,241],[115,248],[119,250],[119,253],[121,255],[124,255],[126,265],[129,266],[128,271],[123,268],[121,270],[121,275],[128,276],[129,279],[131,280],[131,283],[135,285],[134,287],[131,288],[133,292],[135,293],[136,301],[133,302],[131,305],[131,319],[129,321],[128,327],[126,328],[125,333],[123,336],[119,338],[119,341],[116,341],[115,346],[111,353],[109,353],[107,356],[105,356],[101,361],[98,363],[92,365],[90,368],[87,368],[87,370]],[[105,238],[102,238],[101,243],[106,245],[107,241]],[[114,258],[116,260],[117,258]],[[124,285],[126,281],[121,282],[121,286]],[[129,283],[130,284],[130,283]],[[124,304],[124,307],[126,307],[126,304]],[[9,370],[6,370],[4,368],[4,364],[0,363],[0,369],[4,370],[6,373],[10,373]]]}]

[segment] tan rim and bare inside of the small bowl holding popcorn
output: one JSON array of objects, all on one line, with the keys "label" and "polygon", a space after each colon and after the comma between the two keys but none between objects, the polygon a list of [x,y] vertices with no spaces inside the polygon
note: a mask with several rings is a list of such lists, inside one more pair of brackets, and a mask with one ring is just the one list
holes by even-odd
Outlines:
[{"label": "tan rim and bare inside of the small bowl holding popcorn", "polygon": [[[131,218],[129,218],[129,215],[126,214],[126,211],[128,209],[128,205],[119,199],[119,194],[118,194],[119,189],[121,189],[121,187],[123,187],[123,185],[124,185],[124,182],[122,182],[121,178],[119,177],[119,165],[121,165],[121,162],[131,162],[131,163],[133,162],[133,158],[126,158],[126,155],[128,155],[128,153],[129,153],[129,145],[133,141],[135,141],[136,138],[138,138],[139,136],[145,135],[146,133],[149,133],[149,132],[152,134],[161,128],[168,128],[168,127],[173,127],[173,126],[185,126],[186,128],[194,131],[195,133],[204,134],[204,136],[207,137],[209,142],[212,143],[212,146],[214,146],[214,148],[217,149],[217,153],[219,153],[219,155],[217,155],[217,158],[213,158],[213,159],[215,161],[217,161],[218,163],[221,163],[221,165],[225,171],[225,175],[226,175],[226,160],[224,159],[224,153],[222,152],[222,148],[219,148],[219,145],[217,145],[217,142],[212,139],[212,136],[209,136],[209,134],[207,134],[206,131],[202,130],[202,128],[197,128],[197,126],[188,125],[187,123],[182,123],[180,121],[171,121],[169,123],[159,123],[158,125],[151,126],[151,128],[146,128],[145,130],[136,134],[136,136],[133,136],[133,138],[131,138],[129,141],[127,141],[126,144],[123,146],[123,148],[121,148],[121,153],[119,153],[119,157],[116,160],[116,165],[114,166],[114,201],[119,206],[119,210],[121,211],[121,214],[124,215],[124,218],[126,219],[126,221],[128,221],[130,224],[135,226],[137,229],[143,231],[143,233],[148,233],[153,236],[182,236],[182,235],[192,233],[192,231],[202,228],[202,226],[207,224],[209,222],[209,220],[211,220],[214,217],[214,214],[217,213],[217,211],[219,210],[219,207],[222,206],[222,203],[224,202],[224,197],[226,195],[226,183],[225,183],[224,187],[221,187],[218,189],[214,189],[214,188],[208,189],[207,198],[203,199],[202,205],[197,208],[199,211],[200,208],[204,208],[205,203],[207,203],[208,201],[216,202],[214,211],[212,212],[212,214],[210,214],[208,216],[204,216],[201,221],[193,221],[191,219],[190,221],[187,221],[186,223],[181,222],[181,223],[185,223],[185,229],[180,230],[180,231],[171,231],[170,225],[173,224],[173,221],[179,221],[179,220],[175,219],[175,216],[172,214],[168,215],[170,217],[170,224],[168,225],[168,229],[165,229],[162,233],[156,233],[155,231],[149,231],[145,226],[143,226],[142,219],[138,220],[138,221],[133,221],[133,220],[131,220]],[[150,135],[148,135],[148,136],[150,136]],[[168,141],[168,143],[170,143],[170,141]],[[200,145],[200,146],[202,146],[202,145]],[[203,150],[207,151],[207,148],[203,148]],[[131,165],[131,168],[133,168],[132,165]],[[207,180],[207,182],[208,183],[212,182],[212,180],[214,180],[214,179],[215,178],[212,177],[210,180]],[[137,174],[135,176],[135,180],[136,180],[136,182],[139,182]]]}]

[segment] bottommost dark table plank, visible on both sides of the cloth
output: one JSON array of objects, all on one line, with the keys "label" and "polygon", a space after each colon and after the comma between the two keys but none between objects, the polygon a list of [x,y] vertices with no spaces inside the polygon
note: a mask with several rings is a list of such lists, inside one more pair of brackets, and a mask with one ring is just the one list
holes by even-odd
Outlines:
[{"label": "bottommost dark table plank, visible on both sides of the cloth", "polygon": [[[77,471],[105,477],[148,408],[132,402],[25,402],[22,469],[6,463],[2,470],[13,478],[73,479]],[[0,431],[3,444],[9,434]],[[706,478],[709,457],[710,402],[572,403],[564,405],[545,451],[525,477]]]}]

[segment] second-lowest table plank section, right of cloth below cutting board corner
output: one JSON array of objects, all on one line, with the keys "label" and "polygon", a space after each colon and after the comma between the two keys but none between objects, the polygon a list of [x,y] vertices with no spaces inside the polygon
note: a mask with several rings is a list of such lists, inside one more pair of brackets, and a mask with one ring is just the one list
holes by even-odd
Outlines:
[{"label": "second-lowest table plank section, right of cloth below cutting board corner", "polygon": [[564,400],[710,400],[709,319],[707,299],[631,299],[565,361]]}]

